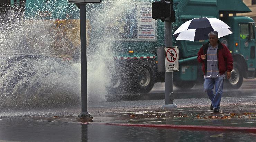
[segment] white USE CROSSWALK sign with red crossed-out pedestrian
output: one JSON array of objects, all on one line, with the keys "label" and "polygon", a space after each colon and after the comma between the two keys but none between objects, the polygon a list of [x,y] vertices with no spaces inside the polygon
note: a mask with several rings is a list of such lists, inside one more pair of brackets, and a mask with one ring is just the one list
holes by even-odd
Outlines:
[{"label": "white USE CROSSWALK sign with red crossed-out pedestrian", "polygon": [[165,47],[165,70],[166,72],[179,71],[179,48]]}]

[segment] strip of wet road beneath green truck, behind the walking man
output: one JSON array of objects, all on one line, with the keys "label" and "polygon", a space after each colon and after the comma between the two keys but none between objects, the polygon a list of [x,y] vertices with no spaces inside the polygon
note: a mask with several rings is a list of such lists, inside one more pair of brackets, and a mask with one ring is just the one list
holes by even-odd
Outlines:
[{"label": "strip of wet road beneath green truck, behind the walking man", "polygon": [[[173,95],[175,99],[186,98],[208,98],[203,91],[203,84],[196,84],[192,89],[181,90],[173,87]],[[244,79],[242,86],[239,89],[223,88],[222,97],[247,97],[256,96],[256,78]],[[156,83],[147,94],[111,94],[106,95],[107,101],[135,101],[135,100],[163,100],[164,98],[164,83]]]}]

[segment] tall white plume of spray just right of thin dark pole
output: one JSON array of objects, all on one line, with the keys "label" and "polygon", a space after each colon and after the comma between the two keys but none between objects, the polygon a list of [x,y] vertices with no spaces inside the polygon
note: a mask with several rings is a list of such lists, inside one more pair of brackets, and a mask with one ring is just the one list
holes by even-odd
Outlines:
[{"label": "tall white plume of spray just right of thin dark pole", "polygon": [[103,9],[87,7],[87,18],[93,25],[88,52],[89,100],[106,100],[106,87],[111,85],[111,78],[116,77],[113,76],[117,69],[114,57],[120,50],[116,47],[120,42],[120,20],[134,8],[133,4],[131,1],[105,1]]}]

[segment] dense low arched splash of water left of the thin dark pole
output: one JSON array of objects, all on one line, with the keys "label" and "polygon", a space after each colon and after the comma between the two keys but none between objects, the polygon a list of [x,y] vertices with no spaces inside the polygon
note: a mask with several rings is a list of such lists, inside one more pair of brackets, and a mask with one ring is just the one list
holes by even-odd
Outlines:
[{"label": "dense low arched splash of water left of the thin dark pole", "polygon": [[45,56],[18,56],[1,62],[2,110],[80,104],[79,69]]}]

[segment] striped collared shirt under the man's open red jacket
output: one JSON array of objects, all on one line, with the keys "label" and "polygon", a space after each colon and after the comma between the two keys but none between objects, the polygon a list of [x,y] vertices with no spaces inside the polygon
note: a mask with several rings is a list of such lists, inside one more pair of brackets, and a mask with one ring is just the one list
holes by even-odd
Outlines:
[{"label": "striped collared shirt under the man's open red jacket", "polygon": [[212,47],[210,44],[207,49],[207,73],[204,75],[204,78],[214,78],[214,77],[224,77],[225,75],[220,75],[218,67],[218,57],[217,49],[219,44],[216,47]]}]

